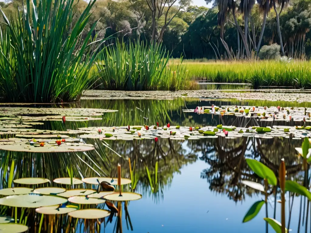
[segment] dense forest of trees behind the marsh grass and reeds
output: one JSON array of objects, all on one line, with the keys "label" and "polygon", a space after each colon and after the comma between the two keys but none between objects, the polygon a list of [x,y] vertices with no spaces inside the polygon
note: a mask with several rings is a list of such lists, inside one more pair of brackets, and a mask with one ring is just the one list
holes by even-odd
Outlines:
[{"label": "dense forest of trees behind the marsh grass and reeds", "polygon": [[[186,59],[243,58],[245,43],[254,54],[277,43],[283,44],[288,57],[311,56],[311,0],[216,0],[210,9],[191,4],[191,0],[97,0],[85,32],[98,21],[94,34],[115,34],[124,42],[162,42],[173,57]],[[17,6],[22,7],[21,0],[0,2],[8,17],[15,17]],[[74,14],[86,6],[87,2],[77,1]]]}]

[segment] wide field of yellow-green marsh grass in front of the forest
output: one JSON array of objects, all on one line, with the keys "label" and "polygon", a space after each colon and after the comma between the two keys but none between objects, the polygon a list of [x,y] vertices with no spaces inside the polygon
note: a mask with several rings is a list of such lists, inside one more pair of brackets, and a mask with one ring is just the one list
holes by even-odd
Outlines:
[{"label": "wide field of yellow-green marsh grass in front of the forest", "polygon": [[200,62],[184,60],[190,78],[219,83],[249,83],[253,86],[311,88],[311,62],[235,61]]}]

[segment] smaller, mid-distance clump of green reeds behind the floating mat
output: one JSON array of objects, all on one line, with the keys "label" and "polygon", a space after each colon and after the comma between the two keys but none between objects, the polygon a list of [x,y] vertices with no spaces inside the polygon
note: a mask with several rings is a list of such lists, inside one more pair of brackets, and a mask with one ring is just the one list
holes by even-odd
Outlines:
[{"label": "smaller, mid-distance clump of green reeds behind the floating mat", "polygon": [[96,87],[110,90],[179,90],[193,88],[186,67],[169,65],[161,44],[121,43],[104,48],[97,62]]}]

